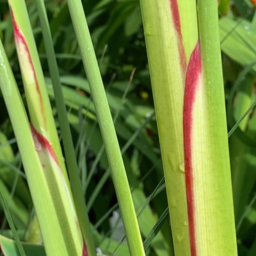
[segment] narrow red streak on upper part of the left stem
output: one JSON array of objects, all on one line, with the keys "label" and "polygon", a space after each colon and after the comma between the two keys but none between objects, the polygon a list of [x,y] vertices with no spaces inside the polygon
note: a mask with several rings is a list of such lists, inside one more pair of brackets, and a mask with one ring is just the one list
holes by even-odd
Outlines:
[{"label": "narrow red streak on upper part of the left stem", "polygon": [[[44,118],[44,124],[46,124],[46,116],[44,115],[44,105],[42,103],[42,95],[40,92],[39,84],[38,84],[38,78],[36,77],[36,71],[34,70],[33,61],[30,55],[30,49],[28,49],[28,44],[26,43],[26,39],[24,38],[24,35],[20,28],[18,27],[18,24],[15,20],[14,12],[12,10],[12,7],[10,7],[10,15],[12,16],[12,25],[14,26],[14,37],[17,44],[22,44],[22,46],[25,49],[26,55],[28,57],[28,62],[30,63],[30,68],[33,71],[34,81],[36,82],[36,91],[38,92],[39,96],[39,102],[40,102],[40,108],[41,108],[41,114]],[[27,67],[24,67],[27,68]]]}]

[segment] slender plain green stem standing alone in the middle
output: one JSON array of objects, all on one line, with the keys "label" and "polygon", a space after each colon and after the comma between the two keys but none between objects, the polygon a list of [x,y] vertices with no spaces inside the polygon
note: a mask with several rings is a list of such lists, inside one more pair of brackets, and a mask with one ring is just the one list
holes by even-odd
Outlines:
[{"label": "slender plain green stem standing alone in the middle", "polygon": [[108,156],[112,171],[112,178],[127,234],[130,254],[138,256],[145,255],[126,170],[122,161],[118,138],[114,130],[113,119],[106,99],[106,93],[98,68],[94,46],[90,38],[82,2],[80,0],[68,0],[68,7],[94,100],[103,142],[105,143],[106,155]]}]

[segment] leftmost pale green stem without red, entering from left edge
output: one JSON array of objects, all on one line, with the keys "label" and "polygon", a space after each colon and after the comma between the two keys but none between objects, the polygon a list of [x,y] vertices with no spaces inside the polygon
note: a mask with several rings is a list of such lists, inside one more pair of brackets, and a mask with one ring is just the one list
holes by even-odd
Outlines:
[{"label": "leftmost pale green stem without red, entering from left edge", "polygon": [[[22,156],[47,255],[68,255],[44,170],[34,148],[28,117],[0,41],[0,88]],[[20,122],[22,120],[22,122]],[[46,209],[47,207],[47,209]]]}]

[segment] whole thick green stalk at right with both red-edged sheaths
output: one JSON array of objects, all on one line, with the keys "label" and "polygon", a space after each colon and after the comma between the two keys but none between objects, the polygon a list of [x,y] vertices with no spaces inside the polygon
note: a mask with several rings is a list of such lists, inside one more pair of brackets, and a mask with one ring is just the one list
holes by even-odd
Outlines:
[{"label": "whole thick green stalk at right with both red-edged sheaths", "polygon": [[217,1],[140,2],[175,255],[236,255]]}]

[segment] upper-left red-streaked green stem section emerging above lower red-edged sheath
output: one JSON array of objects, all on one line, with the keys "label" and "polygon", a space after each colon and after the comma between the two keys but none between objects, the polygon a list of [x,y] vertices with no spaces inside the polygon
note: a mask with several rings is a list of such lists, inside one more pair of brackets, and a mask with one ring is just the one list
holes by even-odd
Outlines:
[{"label": "upper-left red-streaked green stem section emerging above lower red-edged sheath", "polygon": [[31,123],[51,143],[68,182],[62,149],[55,127],[54,116],[52,114],[25,0],[9,0],[8,2],[10,14],[12,15],[15,45],[22,71],[23,86],[26,93],[26,102],[28,103]]}]

